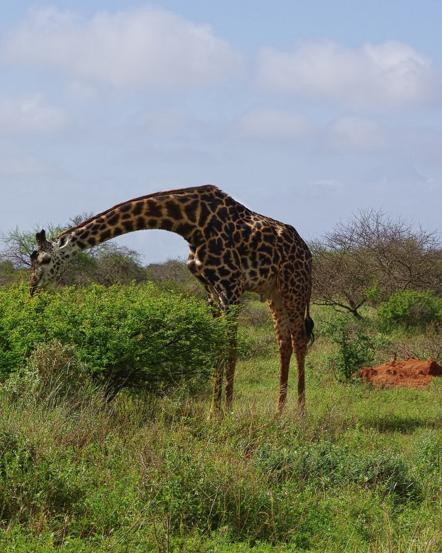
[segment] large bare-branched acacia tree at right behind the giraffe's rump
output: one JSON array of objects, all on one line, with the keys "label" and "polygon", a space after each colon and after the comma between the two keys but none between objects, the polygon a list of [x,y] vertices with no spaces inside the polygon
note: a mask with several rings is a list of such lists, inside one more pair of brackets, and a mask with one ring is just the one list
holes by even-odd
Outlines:
[{"label": "large bare-branched acacia tree at right behind the giraffe's rump", "polygon": [[442,294],[441,237],[384,212],[361,210],[311,243],[315,303],[360,317],[367,301],[400,290]]}]

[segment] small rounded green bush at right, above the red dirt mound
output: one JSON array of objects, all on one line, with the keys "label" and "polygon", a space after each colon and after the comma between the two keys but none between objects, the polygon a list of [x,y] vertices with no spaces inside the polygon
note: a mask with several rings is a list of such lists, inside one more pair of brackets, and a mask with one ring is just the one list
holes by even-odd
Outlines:
[{"label": "small rounded green bush at right, above the red dirt mound", "polygon": [[442,299],[428,292],[403,290],[390,296],[378,311],[379,328],[391,332],[400,326],[424,330],[442,321]]}]

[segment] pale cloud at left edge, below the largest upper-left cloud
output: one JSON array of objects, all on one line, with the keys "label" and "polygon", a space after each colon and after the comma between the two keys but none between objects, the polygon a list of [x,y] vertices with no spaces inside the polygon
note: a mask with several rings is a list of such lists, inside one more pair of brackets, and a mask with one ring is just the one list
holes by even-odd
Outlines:
[{"label": "pale cloud at left edge, below the largest upper-left cloud", "polygon": [[0,135],[52,133],[67,122],[65,111],[46,104],[41,94],[0,96]]}]

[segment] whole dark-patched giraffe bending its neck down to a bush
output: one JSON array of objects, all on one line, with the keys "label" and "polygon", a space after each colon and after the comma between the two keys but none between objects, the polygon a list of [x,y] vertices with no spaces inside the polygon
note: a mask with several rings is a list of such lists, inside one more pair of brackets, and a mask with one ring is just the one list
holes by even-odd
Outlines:
[{"label": "whole dark-patched giraffe bending its neck down to a bush", "polygon": [[[209,304],[233,317],[230,353],[225,364],[225,402],[231,409],[235,374],[238,306],[246,291],[267,301],[280,358],[277,413],[287,400],[289,364],[298,365],[298,411],[305,409],[305,354],[313,341],[309,315],[311,253],[291,227],[254,213],[213,185],[156,192],[119,203],[75,227],[46,239],[37,232],[30,255],[30,295],[57,277],[76,252],[141,229],[165,229],[189,244],[187,266],[204,285]],[[221,409],[224,367],[215,369],[209,418]]]}]

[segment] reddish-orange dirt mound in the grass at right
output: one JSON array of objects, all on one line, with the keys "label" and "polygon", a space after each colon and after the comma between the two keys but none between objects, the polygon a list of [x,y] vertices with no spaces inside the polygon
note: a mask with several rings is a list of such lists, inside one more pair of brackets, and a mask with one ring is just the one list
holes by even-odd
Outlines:
[{"label": "reddish-orange dirt mound in the grass at right", "polygon": [[359,373],[361,379],[378,388],[425,388],[435,376],[442,375],[442,366],[432,359],[420,361],[408,357],[405,361],[389,361],[377,367],[364,367]]}]

